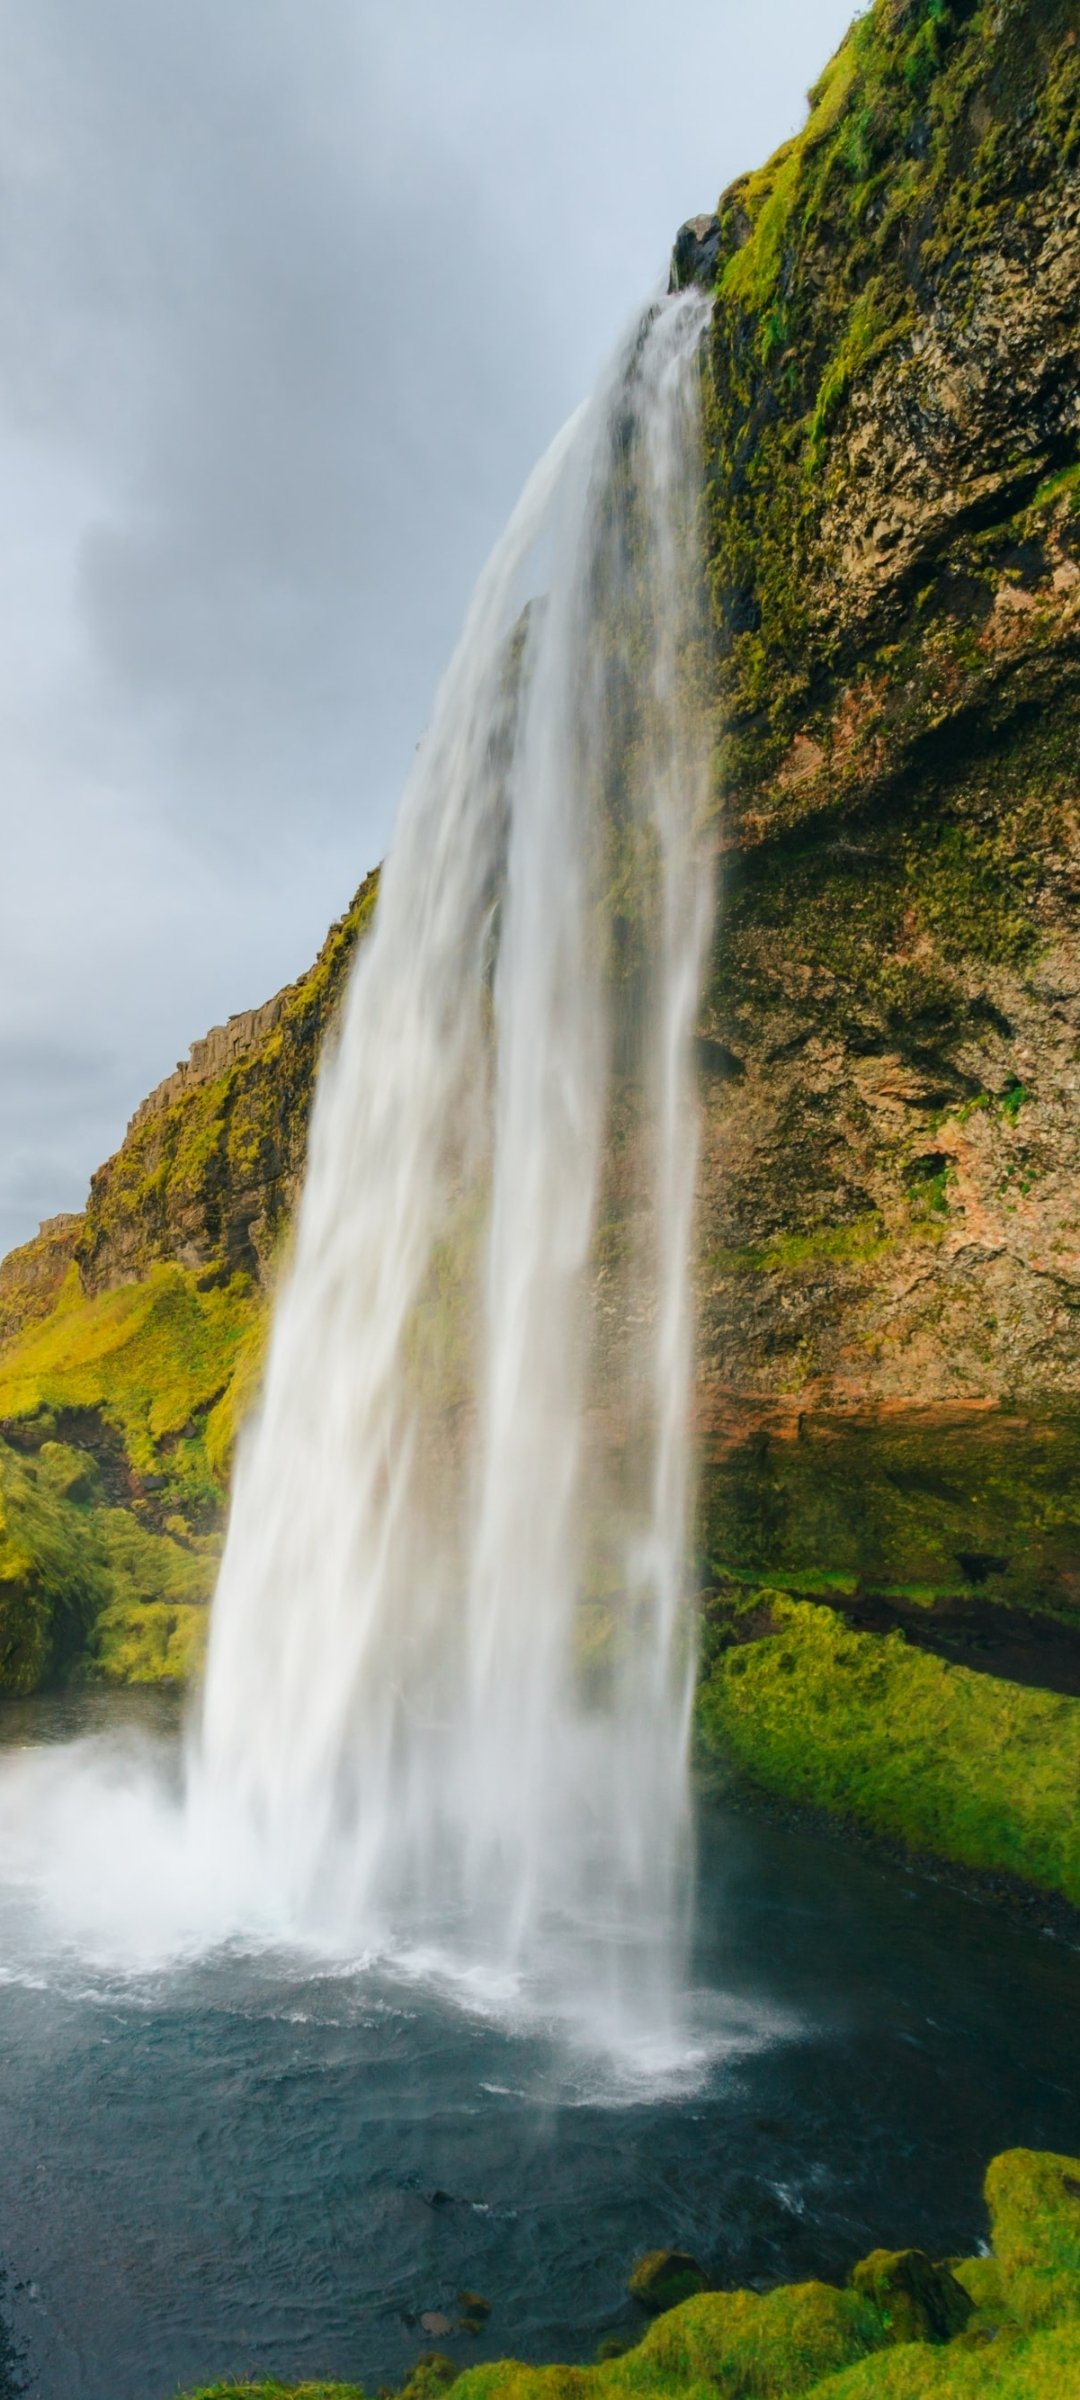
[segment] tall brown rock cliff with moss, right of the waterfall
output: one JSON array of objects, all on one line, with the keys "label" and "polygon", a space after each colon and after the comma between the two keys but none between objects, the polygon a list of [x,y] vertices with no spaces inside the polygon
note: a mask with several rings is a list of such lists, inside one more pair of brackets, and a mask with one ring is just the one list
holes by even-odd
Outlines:
[{"label": "tall brown rock cliff with moss, right of the waterfall", "polygon": [[[1013,1598],[1068,1606],[1075,0],[878,0],[806,130],[677,271],[718,278],[706,1548],[871,1586],[955,1586],[958,1555],[989,1553]],[[979,1423],[986,1402],[1008,1430]],[[821,1418],[830,1505],[794,1558]]]}]

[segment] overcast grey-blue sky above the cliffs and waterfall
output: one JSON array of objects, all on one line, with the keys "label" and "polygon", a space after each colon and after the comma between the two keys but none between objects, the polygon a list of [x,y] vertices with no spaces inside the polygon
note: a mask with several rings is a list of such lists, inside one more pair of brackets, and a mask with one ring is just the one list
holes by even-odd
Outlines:
[{"label": "overcast grey-blue sky above the cliffs and waterfall", "polygon": [[0,1253],[386,850],[528,468],[852,0],[5,0]]}]

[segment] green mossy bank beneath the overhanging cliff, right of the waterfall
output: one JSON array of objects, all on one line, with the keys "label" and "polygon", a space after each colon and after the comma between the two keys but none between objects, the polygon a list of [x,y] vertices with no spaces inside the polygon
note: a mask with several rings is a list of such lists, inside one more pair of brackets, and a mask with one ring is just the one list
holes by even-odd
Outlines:
[{"label": "green mossy bank beneath the overhanging cliff, right of the waterfall", "polygon": [[698,1694],[706,1752],[785,1798],[1080,1906],[1080,1702],[998,1682],[763,1594],[773,1632]]}]

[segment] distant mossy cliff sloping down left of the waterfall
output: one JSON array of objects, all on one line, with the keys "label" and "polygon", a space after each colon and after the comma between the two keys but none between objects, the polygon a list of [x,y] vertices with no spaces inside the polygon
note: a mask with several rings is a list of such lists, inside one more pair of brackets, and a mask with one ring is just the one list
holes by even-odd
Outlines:
[{"label": "distant mossy cliff sloping down left of the waterfall", "polygon": [[0,1692],[199,1668],[314,1068],[374,893],[151,1092],[84,1217],[0,1265]]}]

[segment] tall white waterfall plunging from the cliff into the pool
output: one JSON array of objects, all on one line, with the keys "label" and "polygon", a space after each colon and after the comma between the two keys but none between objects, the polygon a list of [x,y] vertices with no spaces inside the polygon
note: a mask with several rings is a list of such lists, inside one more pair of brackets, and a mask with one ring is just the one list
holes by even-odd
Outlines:
[{"label": "tall white waterfall plunging from the cliff into the pool", "polygon": [[689,1884],[706,317],[646,312],[439,689],[319,1075],[190,1759],[298,1925],[631,2038]]}]

